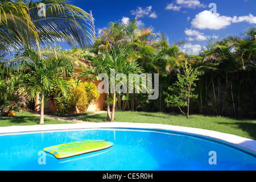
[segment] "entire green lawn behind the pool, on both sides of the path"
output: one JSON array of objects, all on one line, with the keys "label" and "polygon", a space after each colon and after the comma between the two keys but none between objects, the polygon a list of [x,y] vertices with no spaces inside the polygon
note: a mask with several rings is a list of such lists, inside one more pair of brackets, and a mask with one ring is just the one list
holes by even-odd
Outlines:
[{"label": "entire green lawn behind the pool, on both sides of the path", "polygon": [[[106,113],[87,115],[80,117],[79,120],[89,122],[106,122]],[[14,117],[0,117],[0,127],[13,125],[38,125],[40,117],[31,113],[17,113]],[[168,113],[147,113],[139,111],[116,111],[115,122],[134,122],[134,123],[159,123],[164,125],[195,127],[229,133],[245,138],[256,140],[256,121],[253,119],[237,119],[209,115],[190,115],[187,120],[181,114]],[[56,119],[44,118],[45,124],[70,123]]]}]

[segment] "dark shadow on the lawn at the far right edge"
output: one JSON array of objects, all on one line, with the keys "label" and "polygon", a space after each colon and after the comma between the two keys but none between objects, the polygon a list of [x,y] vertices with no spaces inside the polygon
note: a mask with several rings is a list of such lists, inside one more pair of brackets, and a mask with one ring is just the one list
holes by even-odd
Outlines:
[{"label": "dark shadow on the lawn at the far right edge", "polygon": [[256,123],[248,123],[248,122],[220,122],[220,125],[232,125],[233,127],[237,127],[243,131],[245,131],[251,138],[256,140]]}]

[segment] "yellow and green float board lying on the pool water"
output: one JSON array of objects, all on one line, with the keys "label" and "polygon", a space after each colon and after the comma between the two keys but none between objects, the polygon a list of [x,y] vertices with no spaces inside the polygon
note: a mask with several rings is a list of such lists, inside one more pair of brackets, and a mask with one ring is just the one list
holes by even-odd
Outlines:
[{"label": "yellow and green float board lying on the pool water", "polygon": [[82,140],[79,142],[46,147],[44,148],[44,151],[54,155],[56,159],[64,159],[89,152],[104,150],[111,146],[113,146],[113,143],[108,140]]}]

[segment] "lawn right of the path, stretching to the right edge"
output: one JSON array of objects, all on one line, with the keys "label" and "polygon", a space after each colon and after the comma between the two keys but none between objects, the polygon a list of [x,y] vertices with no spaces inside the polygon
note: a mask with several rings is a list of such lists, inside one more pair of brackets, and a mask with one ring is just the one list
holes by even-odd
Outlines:
[{"label": "lawn right of the path, stretching to the right edge", "polygon": [[[139,111],[116,111],[115,122],[158,123],[164,125],[195,127],[219,131],[256,140],[256,121],[209,115],[190,115],[186,119],[181,114],[147,113]],[[106,122],[106,113],[79,118],[82,121]]]}]

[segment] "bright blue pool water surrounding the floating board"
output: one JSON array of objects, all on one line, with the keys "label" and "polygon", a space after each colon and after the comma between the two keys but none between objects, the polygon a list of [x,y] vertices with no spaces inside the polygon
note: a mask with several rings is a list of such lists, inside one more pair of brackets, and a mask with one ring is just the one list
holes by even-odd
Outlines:
[{"label": "bright blue pool water surrounding the floating board", "polygon": [[[43,151],[85,139],[106,139],[114,145],[66,159]],[[237,148],[196,136],[150,130],[2,135],[0,146],[0,170],[256,170],[255,156]]]}]

